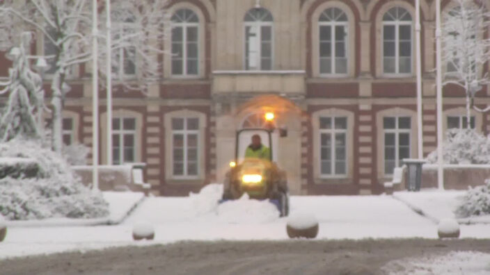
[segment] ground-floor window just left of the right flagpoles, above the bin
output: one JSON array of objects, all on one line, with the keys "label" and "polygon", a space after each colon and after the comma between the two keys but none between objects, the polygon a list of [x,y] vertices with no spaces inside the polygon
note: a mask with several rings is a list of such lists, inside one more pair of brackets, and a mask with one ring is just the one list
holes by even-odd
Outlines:
[{"label": "ground-floor window just left of the right flagpoles, above the bin", "polygon": [[395,167],[410,158],[411,117],[384,117],[384,174],[393,174]]}]

